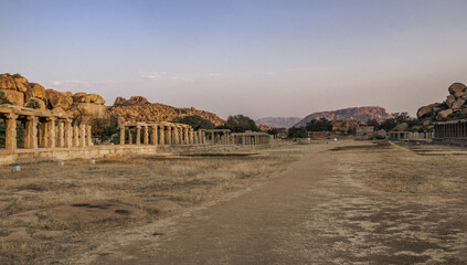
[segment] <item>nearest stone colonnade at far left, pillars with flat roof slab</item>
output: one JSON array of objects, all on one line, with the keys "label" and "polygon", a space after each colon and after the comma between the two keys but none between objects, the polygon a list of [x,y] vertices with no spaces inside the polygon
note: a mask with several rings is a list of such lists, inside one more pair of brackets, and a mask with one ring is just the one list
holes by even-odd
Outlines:
[{"label": "nearest stone colonnade at far left, pillars with flat roof slab", "polygon": [[73,125],[71,116],[52,110],[36,110],[13,105],[0,106],[4,120],[4,147],[18,149],[18,123],[24,124],[23,148],[63,148],[92,146],[91,126]]}]

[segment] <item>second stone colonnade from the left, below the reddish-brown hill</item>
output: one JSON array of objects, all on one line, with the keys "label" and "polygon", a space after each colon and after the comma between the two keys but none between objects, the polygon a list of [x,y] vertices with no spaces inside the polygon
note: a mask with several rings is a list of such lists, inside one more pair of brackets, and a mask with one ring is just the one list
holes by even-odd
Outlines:
[{"label": "second stone colonnade from the left, below the reddish-brown hill", "polygon": [[[142,137],[142,138],[141,138]],[[184,124],[174,123],[124,123],[120,124],[120,145],[202,145],[204,130],[194,131]]]}]

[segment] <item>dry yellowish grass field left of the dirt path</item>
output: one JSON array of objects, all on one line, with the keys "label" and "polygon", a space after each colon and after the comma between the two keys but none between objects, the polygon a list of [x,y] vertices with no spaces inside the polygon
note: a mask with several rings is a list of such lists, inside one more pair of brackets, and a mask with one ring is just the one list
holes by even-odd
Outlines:
[{"label": "dry yellowish grass field left of the dirt path", "polygon": [[14,173],[3,167],[0,263],[42,263],[88,250],[96,233],[171,216],[270,178],[301,148],[277,146],[246,157],[112,157],[63,167],[47,161]]}]

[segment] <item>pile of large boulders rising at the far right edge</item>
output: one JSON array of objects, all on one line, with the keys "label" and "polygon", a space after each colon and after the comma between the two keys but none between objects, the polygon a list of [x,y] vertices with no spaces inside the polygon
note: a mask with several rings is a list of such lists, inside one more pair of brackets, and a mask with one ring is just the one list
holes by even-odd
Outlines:
[{"label": "pile of large boulders rising at the far right edge", "polygon": [[417,118],[424,119],[425,124],[429,124],[433,120],[441,121],[467,118],[467,86],[463,83],[454,83],[447,91],[449,95],[446,97],[446,100],[418,108],[416,113]]}]

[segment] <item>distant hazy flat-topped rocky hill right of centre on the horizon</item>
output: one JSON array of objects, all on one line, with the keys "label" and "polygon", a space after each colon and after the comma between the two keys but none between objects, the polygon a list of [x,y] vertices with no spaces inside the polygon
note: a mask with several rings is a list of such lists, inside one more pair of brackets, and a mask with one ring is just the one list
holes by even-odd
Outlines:
[{"label": "distant hazy flat-topped rocky hill right of centre on the horizon", "polygon": [[305,126],[311,119],[326,118],[328,120],[349,120],[355,119],[367,123],[369,119],[382,121],[390,118],[391,115],[382,107],[352,107],[332,112],[314,113],[298,121],[295,127]]}]

